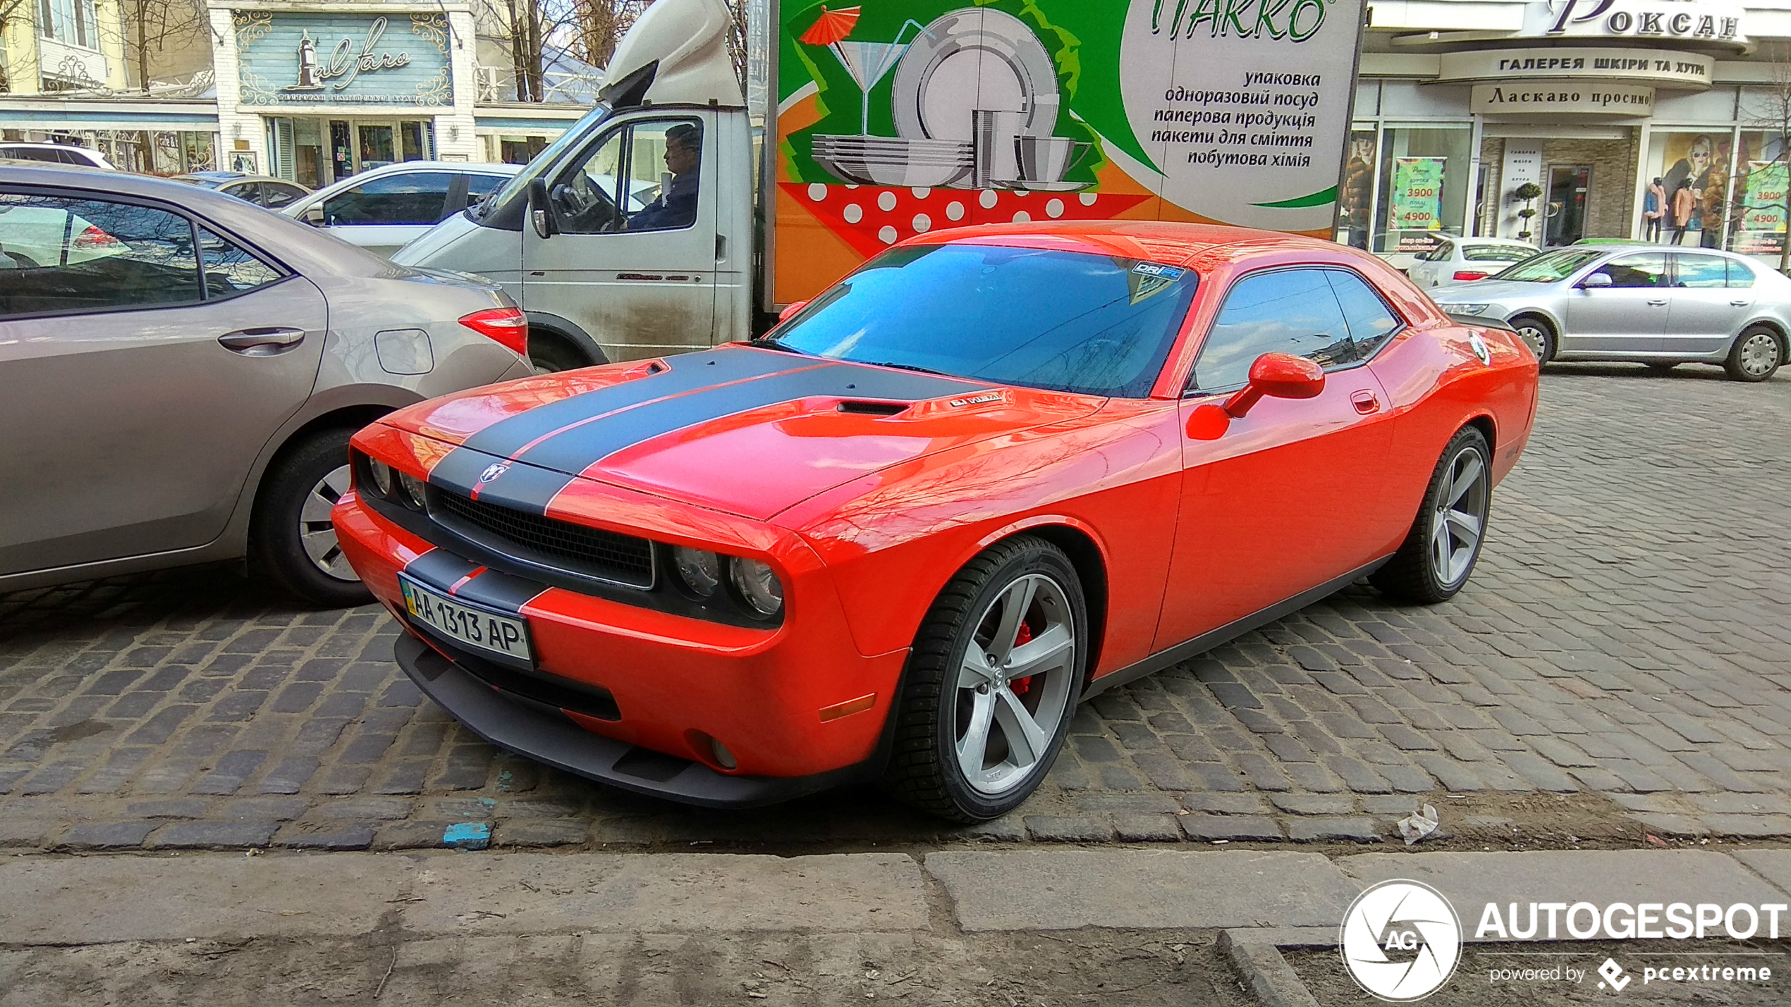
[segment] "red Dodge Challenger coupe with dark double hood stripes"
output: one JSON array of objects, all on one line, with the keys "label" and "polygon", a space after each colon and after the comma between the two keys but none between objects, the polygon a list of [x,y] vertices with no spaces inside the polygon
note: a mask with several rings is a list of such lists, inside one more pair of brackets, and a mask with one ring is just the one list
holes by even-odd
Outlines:
[{"label": "red Dodge Challenger coupe with dark double hood stripes", "polygon": [[1522,340],[1352,249],[962,227],[752,343],[390,413],[333,517],[398,664],[493,744],[976,821],[1094,692],[1361,576],[1451,597],[1535,408]]}]

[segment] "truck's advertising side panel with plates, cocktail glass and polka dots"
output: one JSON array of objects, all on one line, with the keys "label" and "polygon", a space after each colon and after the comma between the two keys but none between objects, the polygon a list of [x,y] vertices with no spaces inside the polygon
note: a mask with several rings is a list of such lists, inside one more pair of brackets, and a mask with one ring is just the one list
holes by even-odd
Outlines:
[{"label": "truck's advertising side panel with plates, cocktail glass and polka dots", "polygon": [[1334,236],[1363,0],[784,0],[774,300],[919,233]]}]

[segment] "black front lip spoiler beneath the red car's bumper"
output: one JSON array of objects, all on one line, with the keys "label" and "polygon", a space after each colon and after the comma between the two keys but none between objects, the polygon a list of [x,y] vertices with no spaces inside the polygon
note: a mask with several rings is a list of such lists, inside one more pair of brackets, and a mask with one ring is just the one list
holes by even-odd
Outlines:
[{"label": "black front lip spoiler beneath the red car's bumper", "polygon": [[500,685],[501,671],[476,658],[453,662],[403,635],[398,667],[430,699],[491,744],[600,783],[711,808],[774,805],[878,773],[876,758],[813,776],[733,776],[623,740],[595,735]]}]

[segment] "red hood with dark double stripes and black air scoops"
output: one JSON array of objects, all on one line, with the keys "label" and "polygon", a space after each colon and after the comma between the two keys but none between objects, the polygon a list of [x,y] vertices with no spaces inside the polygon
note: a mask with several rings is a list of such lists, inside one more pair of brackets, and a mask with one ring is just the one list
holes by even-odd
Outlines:
[{"label": "red hood with dark double stripes and black air scoops", "polygon": [[842,483],[1105,399],[720,347],[528,377],[383,422],[446,445],[430,481],[541,512],[595,479],[770,519]]}]

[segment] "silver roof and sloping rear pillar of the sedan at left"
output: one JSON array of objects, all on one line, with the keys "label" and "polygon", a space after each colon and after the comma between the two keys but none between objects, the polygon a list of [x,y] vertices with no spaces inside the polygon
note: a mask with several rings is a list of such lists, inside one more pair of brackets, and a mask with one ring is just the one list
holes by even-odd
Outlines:
[{"label": "silver roof and sloping rear pillar of the sedan at left", "polygon": [[269,256],[285,259],[301,274],[392,275],[399,270],[380,256],[342,241],[315,227],[281,216],[233,195],[129,172],[102,172],[72,165],[4,165],[0,182],[14,186],[66,188],[82,195],[152,199],[202,215],[242,240],[260,245]]}]

